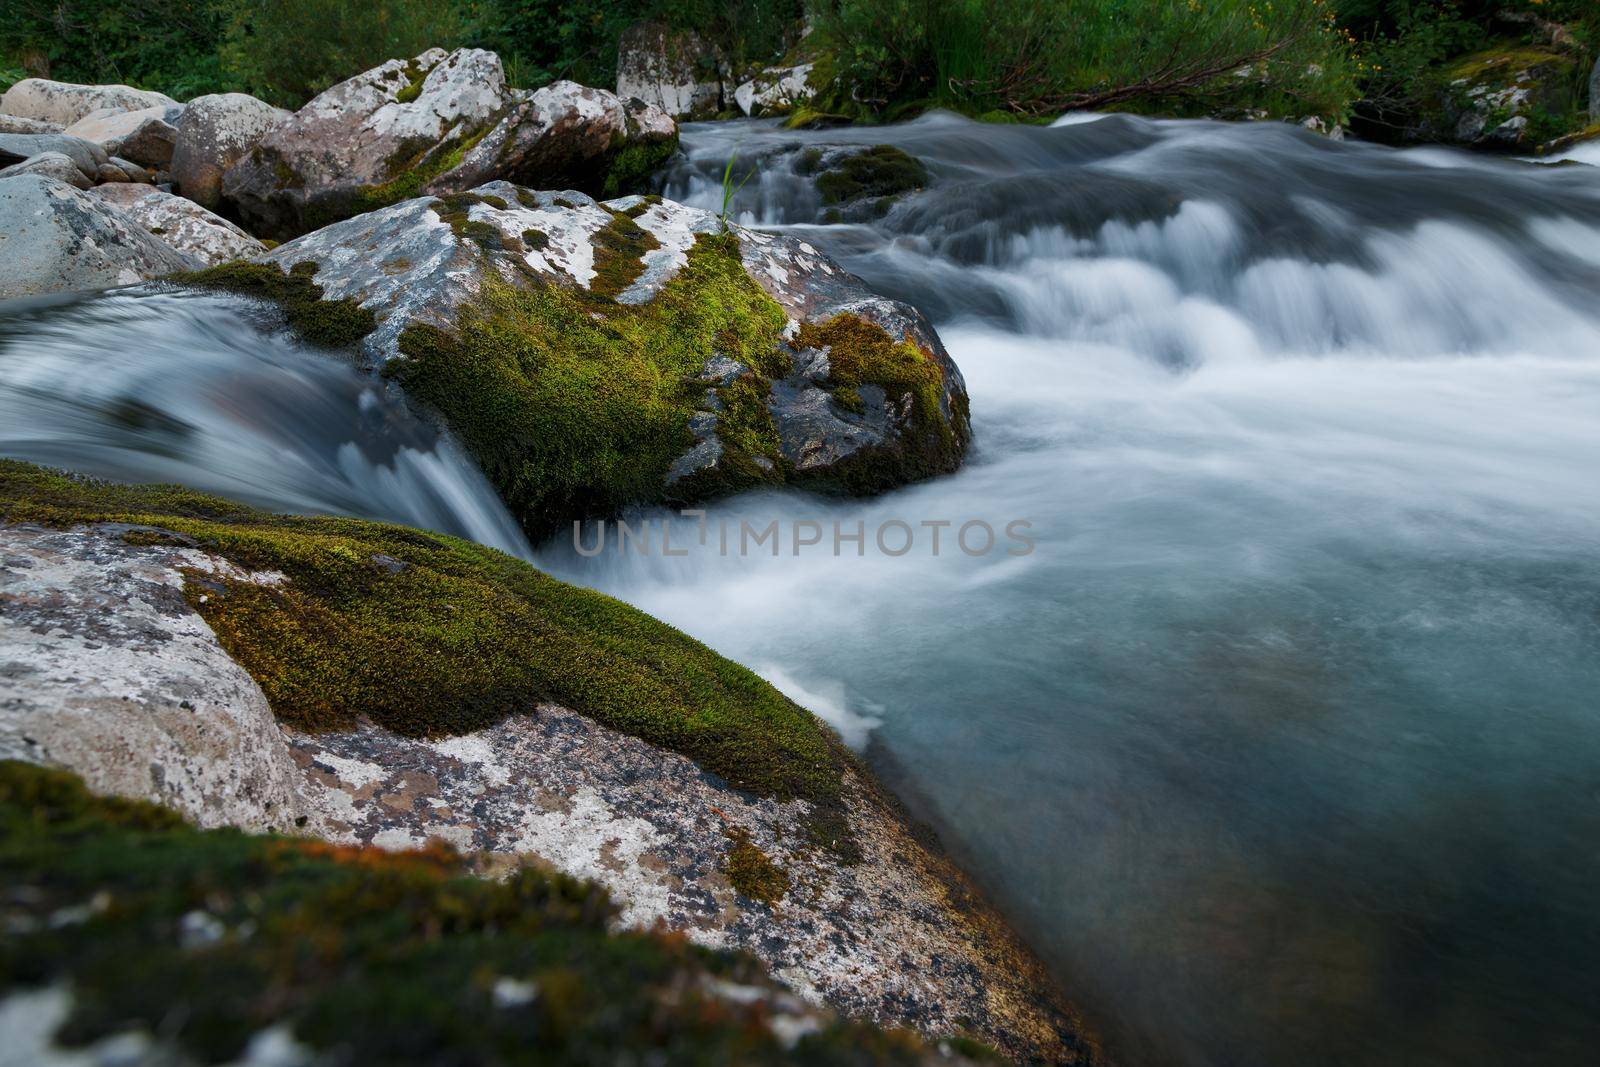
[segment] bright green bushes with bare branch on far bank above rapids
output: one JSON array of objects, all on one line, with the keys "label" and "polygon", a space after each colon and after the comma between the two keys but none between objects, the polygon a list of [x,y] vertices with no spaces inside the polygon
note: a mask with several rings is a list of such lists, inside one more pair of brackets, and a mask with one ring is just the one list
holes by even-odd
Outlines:
[{"label": "bright green bushes with bare branch on far bank above rapids", "polygon": [[1325,0],[835,0],[821,29],[835,110],[1251,104],[1296,117],[1342,115],[1354,98]]}]

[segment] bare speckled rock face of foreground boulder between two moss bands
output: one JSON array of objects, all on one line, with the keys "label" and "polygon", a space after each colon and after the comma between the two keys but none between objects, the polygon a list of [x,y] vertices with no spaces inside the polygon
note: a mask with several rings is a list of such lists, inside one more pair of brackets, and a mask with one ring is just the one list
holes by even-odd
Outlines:
[{"label": "bare speckled rock face of foreground boulder between two moss bands", "polygon": [[[491,872],[549,864],[602,881],[624,925],[746,949],[806,1001],[1018,1057],[1091,1057],[1038,963],[870,782],[850,781],[861,859],[843,864],[806,845],[805,801],[752,798],[558,707],[442,741],[280,733],[182,592],[184,569],[227,565],[128,533],[0,526],[0,757],[205,825],[304,817],[333,841],[443,838]],[[736,849],[776,865],[765,901],[734,888]]]}]

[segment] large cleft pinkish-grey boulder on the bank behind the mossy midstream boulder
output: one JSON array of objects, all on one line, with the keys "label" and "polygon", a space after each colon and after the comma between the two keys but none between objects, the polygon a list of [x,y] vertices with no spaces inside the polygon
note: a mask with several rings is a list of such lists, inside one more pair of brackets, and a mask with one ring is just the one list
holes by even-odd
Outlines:
[{"label": "large cleft pinkish-grey boulder on the bank behind the mossy midstream boulder", "polygon": [[[440,48],[392,59],[322,93],[222,176],[222,197],[258,234],[293,237],[488,178],[581,176],[618,187],[672,150],[672,120],[570,82],[509,90],[494,53]],[[619,178],[621,174],[621,178]]]}]

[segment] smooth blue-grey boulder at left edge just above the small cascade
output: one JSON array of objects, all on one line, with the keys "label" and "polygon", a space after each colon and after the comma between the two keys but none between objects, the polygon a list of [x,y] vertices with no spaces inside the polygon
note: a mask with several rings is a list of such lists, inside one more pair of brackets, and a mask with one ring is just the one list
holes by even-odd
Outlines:
[{"label": "smooth blue-grey boulder at left edge just above the small cascade", "polygon": [[102,290],[192,270],[99,197],[38,174],[0,179],[0,299]]}]

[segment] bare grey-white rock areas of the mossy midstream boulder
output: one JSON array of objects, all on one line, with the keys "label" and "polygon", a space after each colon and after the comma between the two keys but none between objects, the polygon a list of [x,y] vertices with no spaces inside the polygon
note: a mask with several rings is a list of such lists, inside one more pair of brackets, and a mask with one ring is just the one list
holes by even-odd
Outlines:
[{"label": "bare grey-white rock areas of the mossy midstream boulder", "polygon": [[[656,243],[642,254],[638,277],[618,294],[621,304],[651,301],[688,262],[696,237],[723,226],[709,211],[667,200],[597,203],[579,192],[533,192],[509,182],[480,186],[456,224],[442,218],[450,210],[435,198],[408,200],[282,245],[262,261],[283,270],[315,262],[326,298],[354,299],[374,312],[378,328],[365,344],[371,363],[381,365],[398,357],[406,326],[453,328],[488,280],[589,288],[597,278],[597,243],[618,214],[630,216]],[[910,341],[938,363],[941,414],[955,429],[958,459],[966,438],[966,386],[928,322],[915,309],[874,294],[803,240],[730,229],[746,272],[787,314],[790,334],[802,323],[853,315],[882,326],[893,341]],[[525,245],[528,232],[542,235],[538,248]],[[707,384],[722,374],[718,358],[706,352]],[[798,349],[792,368],[773,382],[766,408],[782,456],[798,474],[824,475],[858,454],[909,453],[910,413],[885,403],[880,389],[864,386],[861,410],[850,411],[835,400],[826,350]],[[734,365],[731,374],[744,370]],[[691,430],[698,440],[674,467],[672,482],[714,472],[723,461],[714,410],[699,413]]]}]

